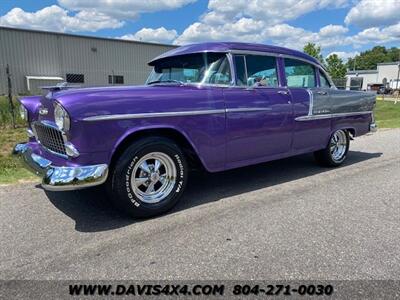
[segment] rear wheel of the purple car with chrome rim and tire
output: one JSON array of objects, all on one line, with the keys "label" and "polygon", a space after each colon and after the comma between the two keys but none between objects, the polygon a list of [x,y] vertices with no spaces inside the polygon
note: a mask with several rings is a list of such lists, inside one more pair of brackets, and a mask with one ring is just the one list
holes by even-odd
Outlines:
[{"label": "rear wheel of the purple car with chrome rim and tire", "polygon": [[347,157],[350,137],[346,130],[335,131],[325,149],[314,152],[316,161],[326,167],[340,166]]}]

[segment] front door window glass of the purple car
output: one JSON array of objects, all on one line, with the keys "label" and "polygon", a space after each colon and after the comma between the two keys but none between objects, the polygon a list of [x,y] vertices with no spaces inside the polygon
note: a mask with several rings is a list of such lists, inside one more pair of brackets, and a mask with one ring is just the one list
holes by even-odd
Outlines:
[{"label": "front door window glass of the purple car", "polygon": [[265,55],[235,56],[236,74],[240,86],[277,87],[276,58]]}]

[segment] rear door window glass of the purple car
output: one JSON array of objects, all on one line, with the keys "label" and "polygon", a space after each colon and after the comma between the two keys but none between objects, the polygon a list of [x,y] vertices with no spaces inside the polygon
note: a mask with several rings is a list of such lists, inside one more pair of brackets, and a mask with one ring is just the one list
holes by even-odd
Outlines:
[{"label": "rear door window glass of the purple car", "polygon": [[285,58],[285,75],[288,87],[315,87],[314,66],[297,59]]}]

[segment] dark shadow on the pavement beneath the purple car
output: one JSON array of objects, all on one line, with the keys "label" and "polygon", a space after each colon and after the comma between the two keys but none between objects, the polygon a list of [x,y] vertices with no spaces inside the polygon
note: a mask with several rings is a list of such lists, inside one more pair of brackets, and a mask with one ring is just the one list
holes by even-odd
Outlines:
[{"label": "dark shadow on the pavement beneath the purple car", "polygon": [[[348,159],[341,168],[381,155],[382,153],[349,151]],[[190,174],[183,199],[168,214],[330,170],[332,169],[318,166],[313,156],[306,154],[219,173],[195,171]],[[121,214],[108,201],[102,188],[69,192],[46,191],[46,195],[56,208],[75,221],[75,229],[80,232],[107,231],[146,221],[133,220]]]}]

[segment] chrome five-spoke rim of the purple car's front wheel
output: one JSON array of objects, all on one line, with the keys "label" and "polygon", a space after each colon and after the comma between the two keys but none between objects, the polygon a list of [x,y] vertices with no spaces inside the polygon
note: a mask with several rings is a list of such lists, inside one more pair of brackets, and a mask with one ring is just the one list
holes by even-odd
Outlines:
[{"label": "chrome five-spoke rim of the purple car's front wheel", "polygon": [[152,152],[136,163],[132,171],[131,188],[140,201],[158,203],[171,193],[176,176],[172,158],[165,153]]}]

